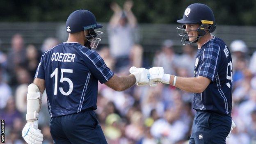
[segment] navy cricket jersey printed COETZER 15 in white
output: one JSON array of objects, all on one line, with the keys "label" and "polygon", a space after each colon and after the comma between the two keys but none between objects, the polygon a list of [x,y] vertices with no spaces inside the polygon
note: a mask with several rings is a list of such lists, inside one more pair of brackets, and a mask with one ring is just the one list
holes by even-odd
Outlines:
[{"label": "navy cricket jersey printed COETZER 15 in white", "polygon": [[34,78],[45,80],[51,117],[97,109],[98,81],[114,73],[96,51],[80,43],[60,43],[46,51]]}]

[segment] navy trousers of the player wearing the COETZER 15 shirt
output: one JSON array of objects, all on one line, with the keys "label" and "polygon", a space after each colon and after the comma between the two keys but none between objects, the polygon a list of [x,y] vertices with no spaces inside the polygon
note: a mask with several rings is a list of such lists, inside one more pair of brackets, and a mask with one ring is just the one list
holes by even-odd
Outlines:
[{"label": "navy trousers of the player wearing the COETZER 15 shirt", "polygon": [[54,144],[107,144],[93,110],[51,118],[50,133]]}]

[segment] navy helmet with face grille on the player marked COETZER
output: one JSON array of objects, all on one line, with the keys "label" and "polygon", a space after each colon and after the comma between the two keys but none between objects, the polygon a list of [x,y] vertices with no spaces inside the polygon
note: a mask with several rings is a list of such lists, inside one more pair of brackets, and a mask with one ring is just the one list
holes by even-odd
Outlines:
[{"label": "navy helmet with face grille on the player marked COETZER", "polygon": [[96,18],[91,11],[79,9],[72,12],[66,21],[66,31],[69,33],[81,32],[88,30],[89,35],[86,36],[88,43],[85,43],[88,48],[97,48],[101,41],[101,31],[94,29],[101,28],[102,25],[96,22]]}]

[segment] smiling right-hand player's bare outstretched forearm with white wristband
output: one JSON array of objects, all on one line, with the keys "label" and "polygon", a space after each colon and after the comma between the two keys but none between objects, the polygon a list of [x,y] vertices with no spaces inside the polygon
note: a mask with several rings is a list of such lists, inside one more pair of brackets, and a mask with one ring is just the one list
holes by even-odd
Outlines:
[{"label": "smiling right-hand player's bare outstretched forearm with white wristband", "polygon": [[[170,85],[173,85],[174,75],[170,77]],[[198,78],[177,77],[175,87],[192,93],[201,93],[205,88]]]}]

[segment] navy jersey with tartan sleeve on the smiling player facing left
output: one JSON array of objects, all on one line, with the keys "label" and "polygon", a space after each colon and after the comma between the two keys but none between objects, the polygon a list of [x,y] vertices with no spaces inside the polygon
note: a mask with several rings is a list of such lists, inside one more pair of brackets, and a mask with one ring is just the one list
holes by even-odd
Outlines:
[{"label": "navy jersey with tartan sleeve on the smiling player facing left", "polygon": [[224,41],[214,37],[198,50],[194,77],[211,80],[202,93],[194,93],[195,110],[231,114],[232,109],[232,58]]}]

